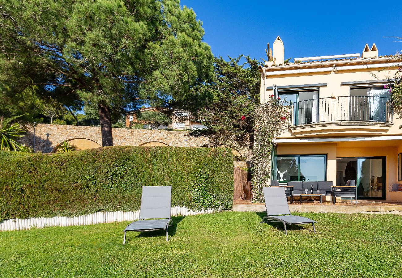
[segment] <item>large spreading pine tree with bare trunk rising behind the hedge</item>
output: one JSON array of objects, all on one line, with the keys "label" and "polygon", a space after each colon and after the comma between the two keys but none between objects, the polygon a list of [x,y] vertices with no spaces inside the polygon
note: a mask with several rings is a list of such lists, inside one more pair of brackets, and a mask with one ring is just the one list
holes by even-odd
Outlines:
[{"label": "large spreading pine tree with bare trunk rising behind the hedge", "polygon": [[41,74],[27,86],[96,104],[109,146],[114,111],[170,106],[211,78],[201,25],[178,0],[0,0],[0,58]]}]

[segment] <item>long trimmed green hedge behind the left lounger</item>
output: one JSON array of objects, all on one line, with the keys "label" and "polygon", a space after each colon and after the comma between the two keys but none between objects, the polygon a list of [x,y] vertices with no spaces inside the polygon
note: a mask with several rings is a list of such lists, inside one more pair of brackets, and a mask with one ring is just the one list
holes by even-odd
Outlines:
[{"label": "long trimmed green hedge behind the left lounger", "polygon": [[172,206],[192,207],[200,173],[223,209],[233,203],[227,148],[103,147],[70,153],[0,152],[0,220],[139,209],[142,186],[172,186]]}]

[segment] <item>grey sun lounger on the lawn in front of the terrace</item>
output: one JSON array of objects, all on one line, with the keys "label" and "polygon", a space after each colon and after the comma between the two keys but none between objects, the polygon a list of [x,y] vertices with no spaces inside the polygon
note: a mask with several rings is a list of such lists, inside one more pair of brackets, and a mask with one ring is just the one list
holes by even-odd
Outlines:
[{"label": "grey sun lounger on the lawn in front of the terrace", "polygon": [[289,206],[287,204],[287,199],[285,196],[285,190],[280,187],[263,187],[265,208],[267,209],[267,216],[263,218],[262,222],[268,219],[274,219],[283,223],[285,228],[285,234],[287,235],[286,224],[289,225],[300,225],[300,224],[312,224],[314,233],[316,233],[316,228],[314,227],[314,221],[312,219],[291,215],[289,211]]}]

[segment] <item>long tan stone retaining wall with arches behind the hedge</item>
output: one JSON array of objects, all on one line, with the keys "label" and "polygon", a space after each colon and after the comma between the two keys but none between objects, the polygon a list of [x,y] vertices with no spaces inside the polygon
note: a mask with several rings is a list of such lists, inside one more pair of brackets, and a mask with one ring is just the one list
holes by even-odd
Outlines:
[{"label": "long tan stone retaining wall with arches behind the hedge", "polygon": [[[33,126],[26,126],[25,129],[27,133],[19,142],[27,146],[33,146]],[[112,135],[113,144],[116,146],[168,145],[172,147],[202,147],[207,143],[207,139],[189,136],[187,131],[112,128]],[[72,139],[87,139],[75,140],[74,142],[77,142],[78,145],[92,145],[92,147],[102,145],[100,127],[48,124],[38,124],[35,127],[36,151],[50,153],[63,141]]]}]

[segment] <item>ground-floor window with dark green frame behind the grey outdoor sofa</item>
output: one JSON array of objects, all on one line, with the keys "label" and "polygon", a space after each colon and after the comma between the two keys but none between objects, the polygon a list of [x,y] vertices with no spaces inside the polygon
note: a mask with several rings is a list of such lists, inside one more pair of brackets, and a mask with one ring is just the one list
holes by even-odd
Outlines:
[{"label": "ground-floor window with dark green frame behind the grey outdoor sofa", "polygon": [[325,181],[326,155],[278,155],[277,180]]}]

